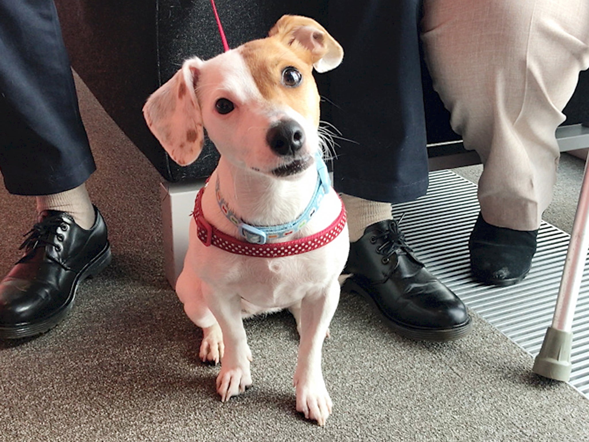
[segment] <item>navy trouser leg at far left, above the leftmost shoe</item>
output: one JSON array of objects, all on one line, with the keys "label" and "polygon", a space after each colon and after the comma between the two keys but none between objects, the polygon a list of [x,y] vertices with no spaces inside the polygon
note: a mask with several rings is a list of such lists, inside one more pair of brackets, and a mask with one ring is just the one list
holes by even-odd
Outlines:
[{"label": "navy trouser leg at far left, above the leftmost shoe", "polygon": [[95,170],[53,0],[0,0],[0,170],[24,195],[73,189]]}]

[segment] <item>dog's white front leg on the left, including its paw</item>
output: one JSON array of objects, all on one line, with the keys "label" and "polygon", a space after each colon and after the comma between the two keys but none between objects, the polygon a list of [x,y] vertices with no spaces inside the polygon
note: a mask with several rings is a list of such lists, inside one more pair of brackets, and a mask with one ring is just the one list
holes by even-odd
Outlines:
[{"label": "dog's white front leg on the left, including its paw", "polygon": [[241,319],[241,298],[237,294],[230,297],[219,296],[204,288],[203,295],[223,333],[225,351],[221,357],[221,371],[217,376],[217,392],[221,401],[225,402],[252,385],[252,352],[247,345],[246,331]]}]

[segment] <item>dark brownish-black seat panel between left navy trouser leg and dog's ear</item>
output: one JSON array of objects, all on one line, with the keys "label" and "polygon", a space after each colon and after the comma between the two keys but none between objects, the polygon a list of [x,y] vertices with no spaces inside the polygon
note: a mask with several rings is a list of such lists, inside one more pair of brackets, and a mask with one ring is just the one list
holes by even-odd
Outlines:
[{"label": "dark brownish-black seat panel between left navy trouser leg and dog's ear", "polygon": [[167,156],[141,108],[157,87],[155,0],[55,0],[74,70],[156,169]]}]

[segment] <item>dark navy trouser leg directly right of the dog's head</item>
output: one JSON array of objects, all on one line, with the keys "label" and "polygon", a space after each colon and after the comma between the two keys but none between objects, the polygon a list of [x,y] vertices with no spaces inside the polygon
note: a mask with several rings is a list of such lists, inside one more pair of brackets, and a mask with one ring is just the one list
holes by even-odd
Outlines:
[{"label": "dark navy trouser leg directly right of the dog's head", "polygon": [[[344,50],[329,72],[338,192],[399,203],[428,187],[419,0],[329,2],[326,28]],[[318,76],[319,77],[319,76]]]}]

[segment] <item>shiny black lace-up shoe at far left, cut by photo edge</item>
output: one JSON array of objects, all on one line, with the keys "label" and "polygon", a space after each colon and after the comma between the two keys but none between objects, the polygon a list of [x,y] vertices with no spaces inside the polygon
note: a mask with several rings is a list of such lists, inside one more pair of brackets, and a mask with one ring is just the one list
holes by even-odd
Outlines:
[{"label": "shiny black lace-up shoe at far left, cut by photo edge", "polygon": [[22,243],[24,256],[0,282],[0,338],[44,333],[71,310],[78,284],[111,260],[107,227],[96,220],[82,229],[65,212],[47,210]]}]

